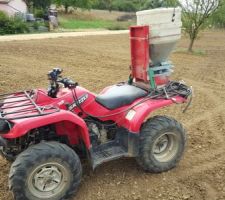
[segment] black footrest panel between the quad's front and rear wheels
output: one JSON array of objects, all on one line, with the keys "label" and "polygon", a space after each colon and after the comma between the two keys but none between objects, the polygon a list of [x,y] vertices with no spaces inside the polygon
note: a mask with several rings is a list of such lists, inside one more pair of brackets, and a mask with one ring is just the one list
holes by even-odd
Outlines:
[{"label": "black footrest panel between the quad's front and rear wheels", "polygon": [[124,147],[113,145],[112,143],[100,145],[97,149],[92,149],[92,167],[95,169],[98,165],[127,156],[127,151]]}]

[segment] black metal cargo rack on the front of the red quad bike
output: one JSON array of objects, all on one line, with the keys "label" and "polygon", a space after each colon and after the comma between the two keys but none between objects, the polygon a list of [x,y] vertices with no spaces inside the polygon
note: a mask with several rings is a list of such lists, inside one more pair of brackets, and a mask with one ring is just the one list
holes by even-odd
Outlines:
[{"label": "black metal cargo rack on the front of the red quad bike", "polygon": [[54,106],[38,106],[32,98],[33,94],[32,90],[0,94],[0,119],[24,119],[50,115],[60,111]]}]

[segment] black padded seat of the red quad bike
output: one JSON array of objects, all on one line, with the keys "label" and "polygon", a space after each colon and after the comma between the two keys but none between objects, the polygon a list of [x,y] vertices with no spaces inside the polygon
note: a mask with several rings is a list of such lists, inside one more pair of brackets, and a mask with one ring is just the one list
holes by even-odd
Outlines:
[{"label": "black padded seat of the red quad bike", "polygon": [[133,85],[118,84],[99,94],[96,101],[109,110],[129,105],[138,98],[147,96],[147,91]]}]

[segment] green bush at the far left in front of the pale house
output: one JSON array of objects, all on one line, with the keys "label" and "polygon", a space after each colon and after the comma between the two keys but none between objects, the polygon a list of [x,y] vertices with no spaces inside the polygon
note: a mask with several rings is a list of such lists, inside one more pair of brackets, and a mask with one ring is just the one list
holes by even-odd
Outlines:
[{"label": "green bush at the far left in front of the pale house", "polygon": [[0,35],[27,32],[29,32],[29,28],[20,17],[9,17],[0,11]]}]

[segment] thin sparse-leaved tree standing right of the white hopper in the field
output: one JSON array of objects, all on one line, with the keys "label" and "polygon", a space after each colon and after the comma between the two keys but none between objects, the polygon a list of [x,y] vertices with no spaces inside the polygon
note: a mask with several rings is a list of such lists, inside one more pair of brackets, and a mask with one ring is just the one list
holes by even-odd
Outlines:
[{"label": "thin sparse-leaved tree standing right of the white hopper in the field", "polygon": [[193,45],[200,30],[204,29],[207,19],[216,12],[221,0],[182,0],[182,21],[185,32],[189,35],[188,51],[193,51]]}]

